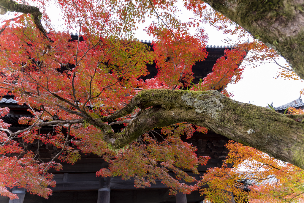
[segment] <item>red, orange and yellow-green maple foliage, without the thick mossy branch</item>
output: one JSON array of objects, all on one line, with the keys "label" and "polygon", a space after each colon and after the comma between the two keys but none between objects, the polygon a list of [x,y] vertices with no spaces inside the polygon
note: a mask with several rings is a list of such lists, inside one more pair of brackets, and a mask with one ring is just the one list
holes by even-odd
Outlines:
[{"label": "red, orange and yellow-green maple foliage, without the thick mossy branch", "polygon": [[[213,72],[204,80],[199,84],[191,84],[192,66],[196,61],[205,60],[208,55],[205,48],[207,35],[200,24],[203,20],[198,19],[210,11],[203,2],[184,1],[185,7],[194,11],[197,17],[182,22],[173,14],[178,10],[174,3],[176,2],[126,0],[100,3],[60,0],[57,1],[57,6],[63,11],[65,30],[56,31],[45,12],[47,2],[39,0],[35,4],[39,5],[45,29],[50,30],[48,33],[40,30],[33,15],[26,12],[16,13],[13,19],[2,20],[0,94],[13,95],[20,105],[26,104],[34,118],[20,118],[19,124],[29,127],[18,132],[10,131],[9,124],[0,120],[1,195],[16,198],[7,188],[17,186],[26,187],[30,193],[47,198],[51,194],[47,186],[55,186],[53,175],[47,171],[51,168],[60,170],[60,161],[75,163],[82,152],[94,153],[109,162],[108,168],[97,172],[98,176],[121,176],[123,179],[133,177],[135,187],[149,187],[155,180],[162,180],[163,184],[171,188],[171,194],[189,194],[199,189],[204,180],[209,182],[210,187],[202,193],[208,197],[212,194],[213,199],[209,198],[212,201],[221,199],[221,191],[232,191],[240,199],[248,197],[243,190],[230,189],[239,184],[238,180],[246,177],[245,173],[227,167],[209,169],[204,179],[197,182],[183,171],[198,173],[197,166],[206,164],[209,157],[197,157],[196,148],[182,141],[181,135],[186,135],[189,139],[195,131],[206,133],[206,128],[189,123],[174,124],[161,128],[160,136],[164,136],[162,140],[155,139],[157,131],[154,129],[120,150],[112,149],[103,140],[97,120],[124,107],[140,89],[215,89],[229,96],[225,88],[228,83],[236,83],[242,78],[244,67],[240,66],[241,62],[253,60],[245,58],[250,50],[274,54],[256,42],[235,45],[226,49],[225,56],[216,61]],[[147,33],[157,39],[152,42],[154,51],[151,51],[150,47],[132,35],[136,23],[155,16],[161,23],[154,22],[146,29]],[[218,13],[209,15],[211,17],[218,29],[228,29],[228,26],[217,24],[227,23],[226,18]],[[72,40],[67,32],[74,27],[79,30],[78,40]],[[189,27],[197,29],[197,33],[191,35]],[[229,32],[237,33],[238,29],[242,28]],[[153,62],[158,69],[157,76],[143,81],[140,77],[149,74],[147,64]],[[135,112],[138,113],[139,109]],[[2,117],[8,113],[8,108],[0,109]],[[135,116],[131,114],[121,117],[112,123],[127,125]],[[108,121],[104,123],[111,125]],[[42,134],[40,128],[45,125],[52,126],[53,131]],[[39,153],[25,150],[24,145],[33,142],[55,146],[59,152],[50,162],[44,163]],[[269,174],[275,175],[279,180],[288,171],[296,177],[293,181],[300,181],[301,170],[288,163],[279,163],[262,152],[239,144],[229,143],[227,147],[232,152],[226,164],[234,163],[233,169],[247,160],[263,170],[249,170],[251,165],[246,165],[250,173],[254,170],[260,177]],[[10,153],[18,156],[8,156]],[[256,165],[253,160],[263,163],[262,166]],[[173,172],[174,176],[169,175],[169,172]],[[223,180],[223,184],[214,186],[214,181],[217,180],[214,177]],[[194,184],[180,183],[178,180],[181,179]],[[289,184],[288,181],[285,177],[278,184],[279,189],[269,193],[278,194],[284,188],[299,184]],[[250,189],[264,190],[261,187],[266,186],[252,186]],[[292,194],[296,192],[290,193]]]}]

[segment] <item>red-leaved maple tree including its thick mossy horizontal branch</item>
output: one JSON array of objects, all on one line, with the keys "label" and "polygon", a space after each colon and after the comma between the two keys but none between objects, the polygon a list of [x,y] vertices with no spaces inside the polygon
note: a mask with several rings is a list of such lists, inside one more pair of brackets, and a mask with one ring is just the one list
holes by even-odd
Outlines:
[{"label": "red-leaved maple tree including its thick mossy horizontal branch", "polygon": [[[0,93],[14,95],[35,116],[20,118],[19,124],[29,127],[17,132],[0,120],[1,195],[16,198],[6,187],[17,186],[47,197],[51,193],[47,186],[54,186],[47,171],[60,170],[56,159],[75,163],[80,159],[76,149],[95,153],[110,163],[97,175],[134,177],[136,187],[147,187],[161,179],[172,188],[171,194],[190,193],[199,184],[189,186],[178,180],[197,181],[183,170],[198,173],[198,164],[206,164],[208,157],[196,157],[196,148],[183,142],[180,135],[186,133],[190,138],[195,130],[206,133],[207,128],[304,167],[298,156],[303,126],[295,121],[301,115],[282,116],[227,97],[227,84],[241,79],[240,63],[256,60],[244,58],[247,52],[261,52],[267,47],[257,41],[238,44],[226,50],[203,81],[191,85],[192,65],[208,54],[206,34],[195,21],[209,11],[203,2],[184,1],[197,18],[182,22],[173,14],[178,10],[174,3],[57,1],[66,29],[79,29],[78,40],[71,40],[68,32],[52,27],[45,10],[47,2],[0,0],[1,14],[17,12],[15,18],[2,20]],[[146,29],[157,38],[152,43],[154,51],[132,36],[136,23],[152,16],[162,21]],[[221,20],[229,23],[215,13],[214,25]],[[197,34],[191,35],[189,27],[197,28]],[[228,26],[218,28],[229,30]],[[243,35],[241,27],[227,32],[239,29]],[[266,54],[256,57],[277,56],[270,49]],[[148,74],[146,65],[153,61],[157,76],[140,80]],[[2,116],[9,112],[7,108],[0,111]],[[116,133],[113,124],[125,124],[125,128]],[[47,125],[53,126],[54,133],[41,134],[39,129]],[[166,135],[160,142],[153,139],[156,127],[163,127],[162,134]],[[271,132],[271,138],[265,131]],[[274,136],[285,142],[269,142]],[[294,136],[298,143],[290,141]],[[43,163],[39,153],[26,151],[18,138],[23,145],[38,140],[60,152]],[[257,138],[266,142],[255,142]],[[20,155],[5,156],[8,152]]]}]

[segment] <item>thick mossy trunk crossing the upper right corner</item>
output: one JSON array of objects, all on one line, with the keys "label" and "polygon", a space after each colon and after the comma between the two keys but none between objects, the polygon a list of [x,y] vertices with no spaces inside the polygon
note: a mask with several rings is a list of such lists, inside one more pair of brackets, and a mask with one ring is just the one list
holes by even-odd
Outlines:
[{"label": "thick mossy trunk crossing the upper right corner", "polygon": [[275,48],[304,79],[303,0],[204,0],[253,37]]}]

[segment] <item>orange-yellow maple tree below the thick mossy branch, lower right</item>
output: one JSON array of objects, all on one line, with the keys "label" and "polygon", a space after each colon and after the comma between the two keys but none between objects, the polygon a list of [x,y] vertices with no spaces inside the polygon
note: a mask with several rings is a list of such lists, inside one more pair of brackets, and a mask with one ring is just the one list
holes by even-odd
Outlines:
[{"label": "orange-yellow maple tree below the thick mossy branch, lower right", "polygon": [[[303,109],[289,107],[289,114],[303,114]],[[201,194],[211,202],[302,202],[303,170],[270,157],[252,147],[229,141],[228,156],[221,168],[210,168],[198,181],[208,184]],[[231,196],[233,194],[233,196]]]}]

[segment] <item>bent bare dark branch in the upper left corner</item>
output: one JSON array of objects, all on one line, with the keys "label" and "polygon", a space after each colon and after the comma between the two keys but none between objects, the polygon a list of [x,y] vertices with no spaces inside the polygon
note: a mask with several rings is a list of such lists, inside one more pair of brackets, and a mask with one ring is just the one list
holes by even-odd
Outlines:
[{"label": "bent bare dark branch in the upper left corner", "polygon": [[44,30],[41,24],[42,13],[35,6],[19,4],[12,0],[0,0],[0,13],[4,15],[7,11],[11,12],[20,12],[20,13],[29,13],[33,17],[33,22],[36,24],[37,28],[43,34],[43,36],[49,40],[47,37],[47,32]]}]

